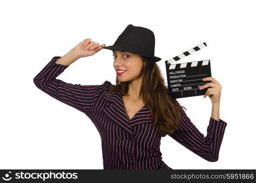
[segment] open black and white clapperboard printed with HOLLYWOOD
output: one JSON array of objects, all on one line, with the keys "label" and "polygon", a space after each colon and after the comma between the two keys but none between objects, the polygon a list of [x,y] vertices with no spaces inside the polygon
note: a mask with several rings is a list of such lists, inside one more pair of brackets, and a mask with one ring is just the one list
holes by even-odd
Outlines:
[{"label": "open black and white clapperboard printed with HOLLYWOOD", "polygon": [[166,73],[168,90],[172,98],[185,98],[189,96],[205,95],[208,88],[199,90],[202,85],[210,81],[202,81],[205,77],[211,77],[210,60],[200,60],[195,62],[177,63],[183,57],[199,51],[207,46],[202,43],[172,59],[166,60]]}]

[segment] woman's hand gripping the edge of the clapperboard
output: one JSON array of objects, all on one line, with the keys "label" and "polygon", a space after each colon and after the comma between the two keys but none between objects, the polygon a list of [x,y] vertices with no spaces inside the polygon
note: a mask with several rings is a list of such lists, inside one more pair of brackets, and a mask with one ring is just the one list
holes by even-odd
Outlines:
[{"label": "woman's hand gripping the edge of the clapperboard", "polygon": [[205,93],[203,98],[209,96],[212,104],[219,104],[221,100],[221,84],[219,84],[219,82],[216,81],[216,79],[214,79],[213,77],[205,77],[202,80],[211,81],[208,84],[202,85],[202,87],[199,88],[200,90],[203,90],[204,88],[210,87],[207,89],[207,92]]}]

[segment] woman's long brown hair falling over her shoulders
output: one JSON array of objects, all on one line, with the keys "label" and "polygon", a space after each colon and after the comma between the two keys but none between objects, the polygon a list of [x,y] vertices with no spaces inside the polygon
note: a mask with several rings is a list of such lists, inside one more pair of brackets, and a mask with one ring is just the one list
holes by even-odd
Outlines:
[{"label": "woman's long brown hair falling over her shoulders", "polygon": [[[159,70],[159,66],[147,57],[141,56],[145,63],[142,68],[143,81],[140,96],[150,112],[152,113],[153,123],[161,137],[172,134],[177,129],[181,120],[180,104],[170,96],[167,86],[164,84],[164,78]],[[124,96],[128,92],[129,82],[120,82],[117,77],[116,85],[111,85],[114,95],[121,93]],[[185,107],[184,107],[185,108]],[[186,108],[185,108],[186,109]]]}]

